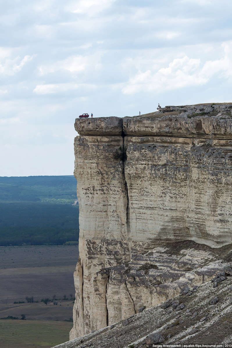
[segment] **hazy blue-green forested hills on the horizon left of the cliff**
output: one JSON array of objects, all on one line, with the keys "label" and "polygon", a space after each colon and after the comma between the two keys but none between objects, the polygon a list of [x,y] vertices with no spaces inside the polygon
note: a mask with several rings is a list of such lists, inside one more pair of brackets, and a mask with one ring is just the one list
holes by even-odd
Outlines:
[{"label": "hazy blue-green forested hills on the horizon left of the cliff", "polygon": [[77,241],[75,199],[71,175],[0,177],[0,245]]}]

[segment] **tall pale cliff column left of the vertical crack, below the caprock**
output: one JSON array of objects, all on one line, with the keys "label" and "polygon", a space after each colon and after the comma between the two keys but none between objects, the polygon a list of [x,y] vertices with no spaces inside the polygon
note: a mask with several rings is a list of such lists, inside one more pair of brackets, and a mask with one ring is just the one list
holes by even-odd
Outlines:
[{"label": "tall pale cliff column left of the vertical crack, below the caprock", "polygon": [[74,276],[75,324],[70,337],[108,324],[109,272],[104,269],[130,260],[122,154],[122,136],[75,138],[80,260]]}]

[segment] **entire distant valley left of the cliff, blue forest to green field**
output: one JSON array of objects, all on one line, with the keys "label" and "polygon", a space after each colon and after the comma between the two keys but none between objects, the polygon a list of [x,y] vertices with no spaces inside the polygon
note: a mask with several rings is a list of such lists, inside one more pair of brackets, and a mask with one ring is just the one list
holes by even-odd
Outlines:
[{"label": "entire distant valley left of the cliff, blue forest to green field", "polygon": [[78,259],[76,185],[71,175],[0,177],[0,341],[6,348],[47,348],[69,338]]}]

